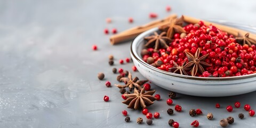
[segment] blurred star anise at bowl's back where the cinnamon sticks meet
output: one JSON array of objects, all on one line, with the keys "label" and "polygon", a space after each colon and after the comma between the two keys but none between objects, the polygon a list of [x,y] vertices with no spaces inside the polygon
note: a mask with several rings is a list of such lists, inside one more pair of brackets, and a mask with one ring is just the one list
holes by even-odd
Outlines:
[{"label": "blurred star anise at bowl's back where the cinnamon sticks meet", "polygon": [[186,33],[186,31],[182,28],[183,20],[183,15],[178,19],[171,19],[169,25],[160,26],[159,30],[166,31],[166,36],[169,38],[172,38],[174,32]]}]

